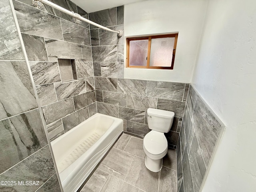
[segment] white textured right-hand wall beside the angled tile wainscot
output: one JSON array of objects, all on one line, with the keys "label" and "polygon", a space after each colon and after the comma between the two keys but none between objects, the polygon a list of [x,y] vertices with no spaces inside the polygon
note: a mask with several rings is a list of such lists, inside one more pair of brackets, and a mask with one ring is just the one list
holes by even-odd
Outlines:
[{"label": "white textured right-hand wall beside the angled tile wainscot", "polygon": [[202,192],[255,192],[255,0],[209,1],[192,85],[227,126]]}]

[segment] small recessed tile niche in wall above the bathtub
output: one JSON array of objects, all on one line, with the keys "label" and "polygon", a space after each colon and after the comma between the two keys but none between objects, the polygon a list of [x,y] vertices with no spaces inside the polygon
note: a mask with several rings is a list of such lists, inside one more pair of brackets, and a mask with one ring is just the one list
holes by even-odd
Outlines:
[{"label": "small recessed tile niche in wall above the bathtub", "polygon": [[75,59],[58,58],[58,65],[60,69],[60,79],[62,83],[78,80]]}]

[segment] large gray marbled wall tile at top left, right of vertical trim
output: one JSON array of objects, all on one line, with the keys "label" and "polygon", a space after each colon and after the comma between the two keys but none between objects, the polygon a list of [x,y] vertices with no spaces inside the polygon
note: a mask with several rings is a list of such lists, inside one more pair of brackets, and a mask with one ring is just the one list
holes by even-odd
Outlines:
[{"label": "large gray marbled wall tile at top left, right of vertical trim", "polygon": [[21,32],[63,40],[60,18],[18,1],[13,4]]}]

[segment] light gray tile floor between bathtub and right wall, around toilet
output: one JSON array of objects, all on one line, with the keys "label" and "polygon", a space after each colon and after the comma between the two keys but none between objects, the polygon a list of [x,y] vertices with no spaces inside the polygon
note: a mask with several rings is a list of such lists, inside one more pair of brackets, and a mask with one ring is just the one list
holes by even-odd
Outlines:
[{"label": "light gray tile floor between bathtub and right wall, around toilet", "polygon": [[81,192],[177,192],[176,151],[168,150],[162,170],[155,173],[144,164],[142,143],[122,134]]}]

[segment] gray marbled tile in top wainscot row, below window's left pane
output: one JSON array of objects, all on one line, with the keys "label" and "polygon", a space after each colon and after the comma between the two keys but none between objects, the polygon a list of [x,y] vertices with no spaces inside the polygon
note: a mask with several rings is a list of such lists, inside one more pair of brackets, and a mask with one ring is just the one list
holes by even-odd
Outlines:
[{"label": "gray marbled tile in top wainscot row, below window's left pane", "polygon": [[118,92],[146,96],[147,81],[118,79]]}]

